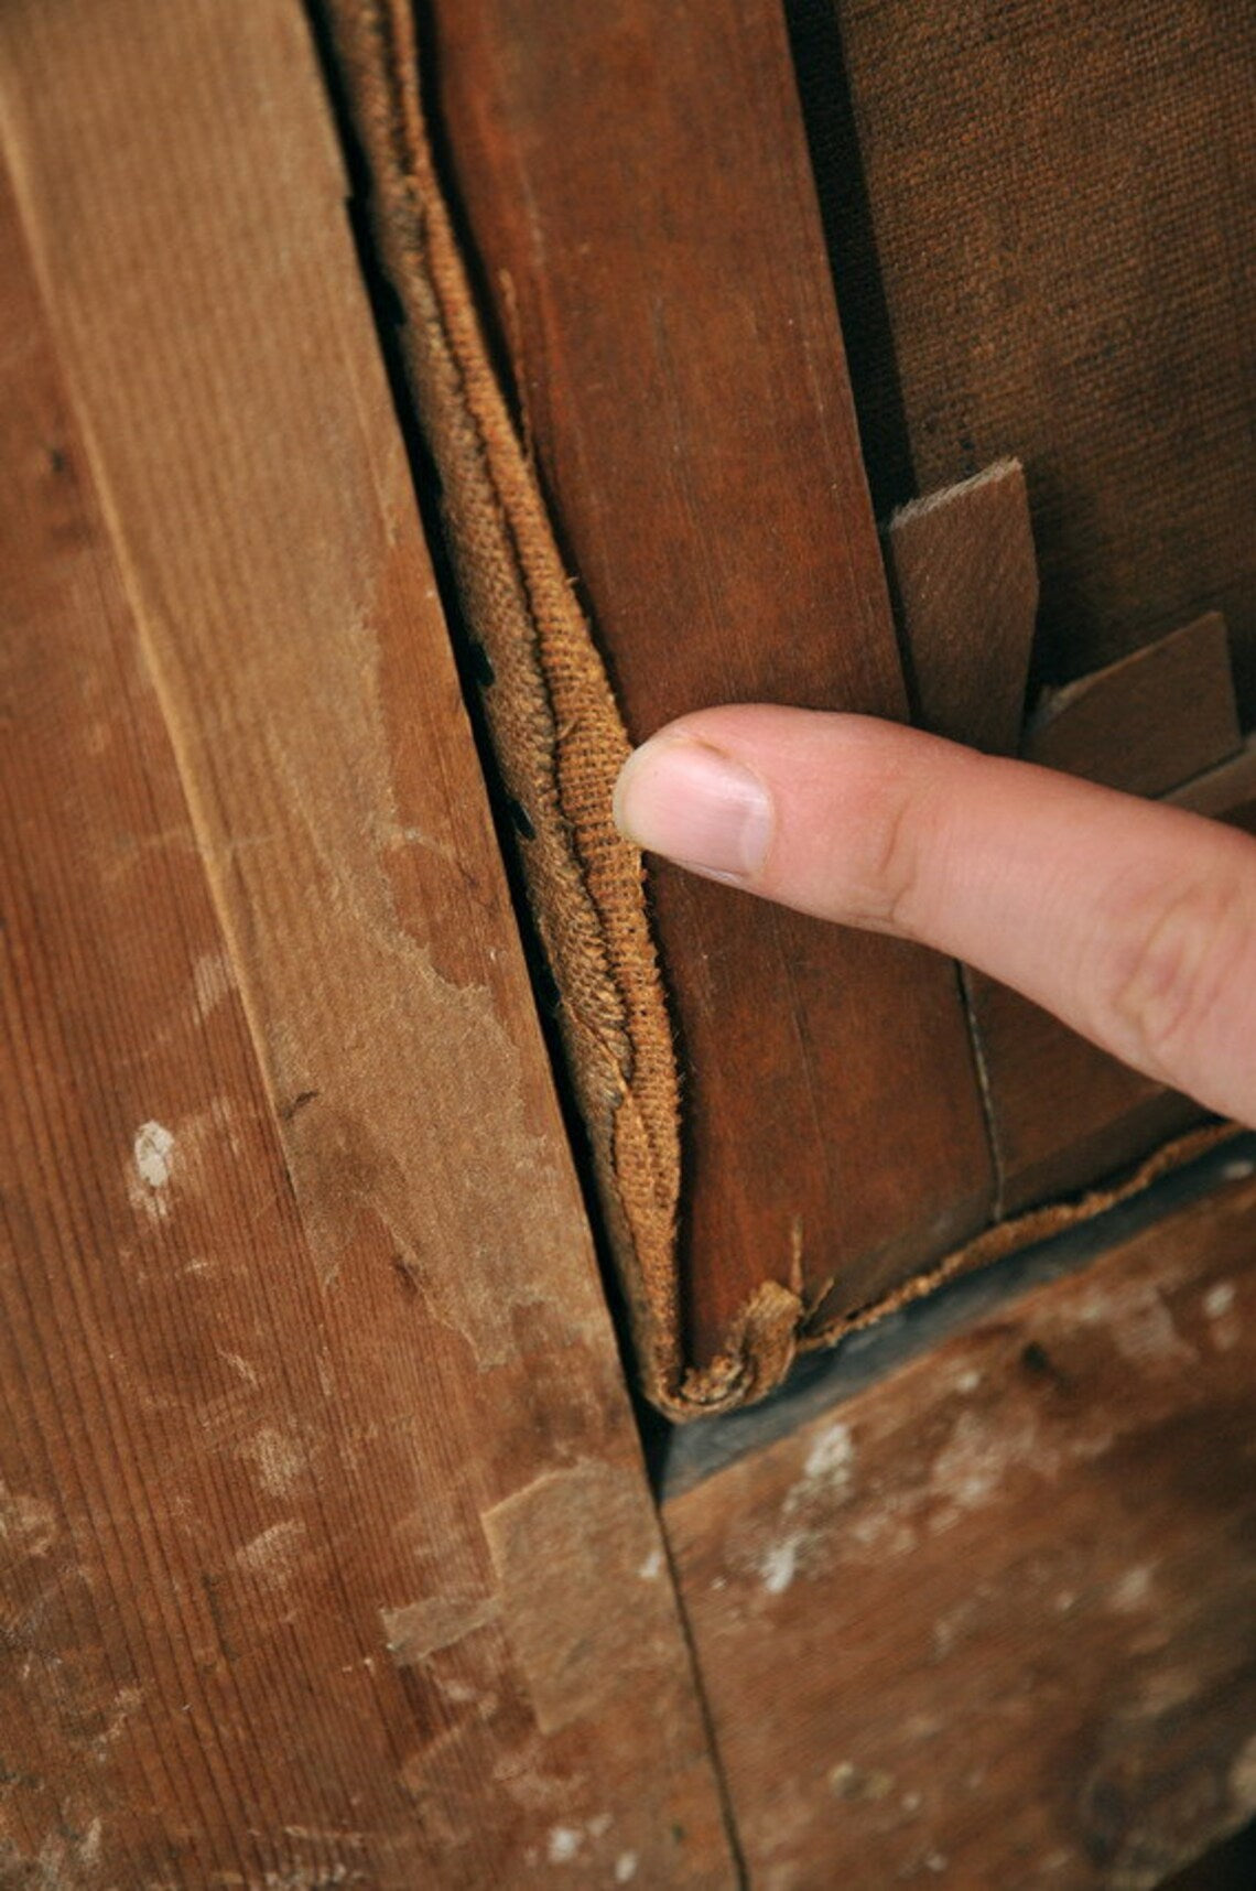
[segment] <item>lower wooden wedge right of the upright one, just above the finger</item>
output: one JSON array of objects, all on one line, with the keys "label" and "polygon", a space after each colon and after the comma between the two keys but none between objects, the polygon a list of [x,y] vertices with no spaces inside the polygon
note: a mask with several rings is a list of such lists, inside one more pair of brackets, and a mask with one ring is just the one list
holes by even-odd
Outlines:
[{"label": "lower wooden wedge right of the upright one, just above the finger", "polygon": [[1048,692],[1021,753],[1127,794],[1167,794],[1241,747],[1226,620],[1209,611]]}]

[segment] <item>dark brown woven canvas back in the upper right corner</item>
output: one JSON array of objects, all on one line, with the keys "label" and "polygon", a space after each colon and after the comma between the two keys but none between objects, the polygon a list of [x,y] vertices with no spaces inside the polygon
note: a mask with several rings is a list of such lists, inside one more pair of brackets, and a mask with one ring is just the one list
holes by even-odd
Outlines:
[{"label": "dark brown woven canvas back in the upper right corner", "polygon": [[[1025,461],[1044,677],[1220,609],[1250,719],[1248,0],[791,0],[815,6],[866,178],[874,267],[838,299],[883,310],[868,412],[902,418],[923,492]],[[840,61],[808,83],[840,110]]]}]

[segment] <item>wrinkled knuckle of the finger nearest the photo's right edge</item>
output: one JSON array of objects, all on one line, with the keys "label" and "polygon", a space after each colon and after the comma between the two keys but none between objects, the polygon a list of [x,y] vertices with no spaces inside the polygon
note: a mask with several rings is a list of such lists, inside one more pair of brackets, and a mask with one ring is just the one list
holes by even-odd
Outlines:
[{"label": "wrinkled knuckle of the finger nearest the photo's right edge", "polygon": [[1250,944],[1237,885],[1184,883],[1144,902],[1112,959],[1108,1015],[1131,1063],[1171,1076],[1235,987]]}]

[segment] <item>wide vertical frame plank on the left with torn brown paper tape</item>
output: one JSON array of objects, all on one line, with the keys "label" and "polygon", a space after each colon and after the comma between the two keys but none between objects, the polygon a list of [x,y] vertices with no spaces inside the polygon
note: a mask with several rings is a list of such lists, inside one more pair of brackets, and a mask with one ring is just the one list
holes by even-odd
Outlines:
[{"label": "wide vertical frame plank on the left with torn brown paper tape", "polygon": [[0,1880],[726,1885],[299,8],[0,72]]}]

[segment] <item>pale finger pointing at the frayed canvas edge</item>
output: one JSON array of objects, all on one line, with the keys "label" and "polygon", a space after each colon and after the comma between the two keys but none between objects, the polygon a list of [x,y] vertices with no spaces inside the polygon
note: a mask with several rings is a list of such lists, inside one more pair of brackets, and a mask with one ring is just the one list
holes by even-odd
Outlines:
[{"label": "pale finger pointing at the frayed canvas edge", "polygon": [[647,851],[1014,985],[1256,1125],[1256,840],[872,717],[738,703],[628,760]]}]

